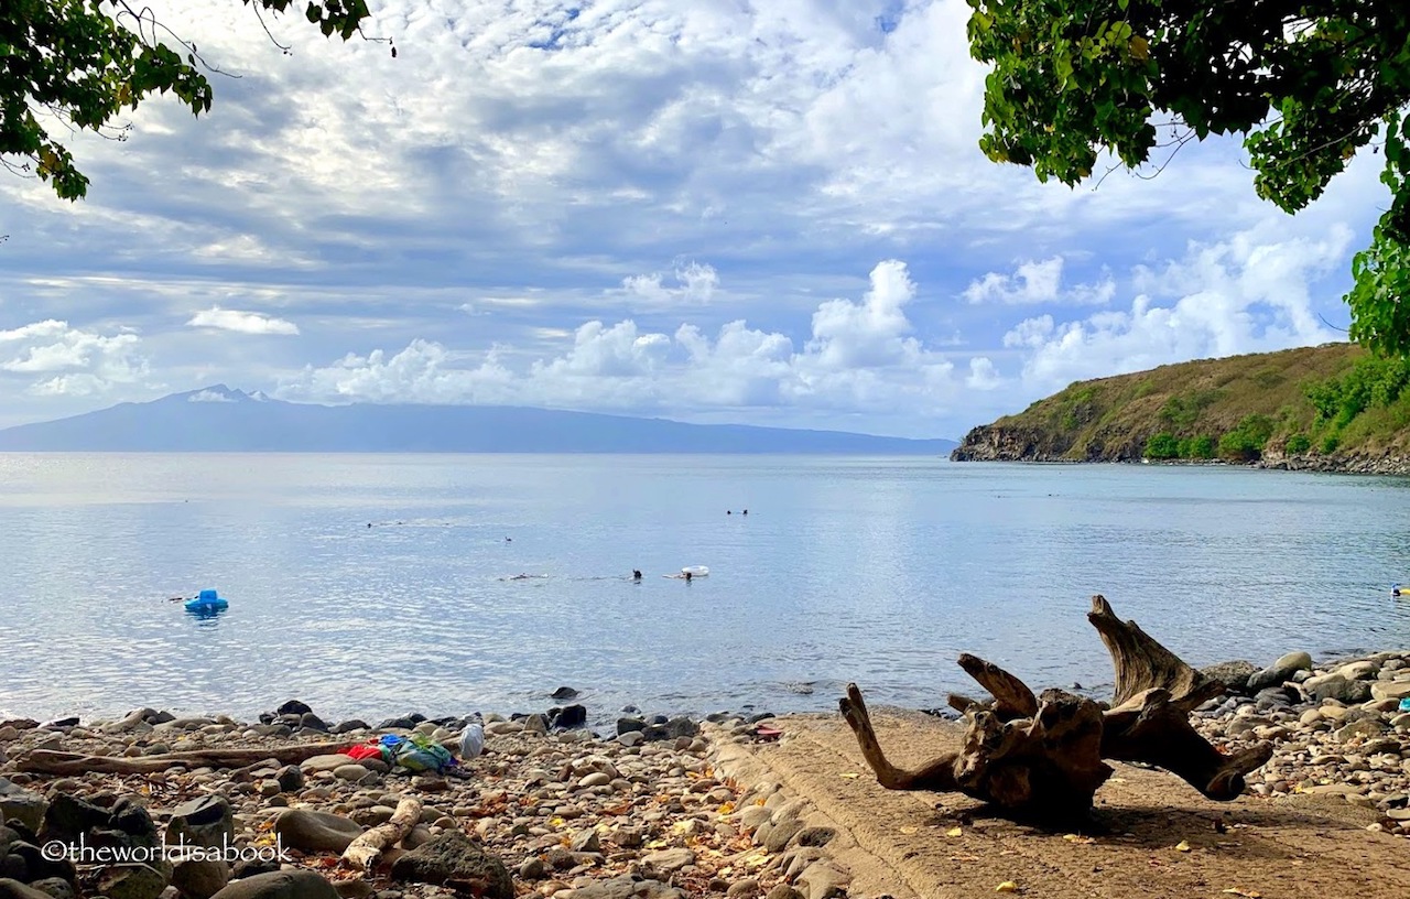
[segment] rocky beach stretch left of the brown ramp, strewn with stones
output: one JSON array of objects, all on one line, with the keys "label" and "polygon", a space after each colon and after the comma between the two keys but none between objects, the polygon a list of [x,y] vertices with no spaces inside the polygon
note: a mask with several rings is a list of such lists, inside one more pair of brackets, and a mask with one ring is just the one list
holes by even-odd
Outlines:
[{"label": "rocky beach stretch left of the brown ramp, strewn with stones", "polygon": [[[598,736],[578,727],[581,706],[488,714],[484,754],[422,774],[329,748],[330,737],[351,747],[379,734],[454,745],[470,723],[419,717],[329,726],[290,702],[259,723],[152,709],[109,723],[0,723],[0,899],[814,899],[843,889],[825,861],[832,831],[808,827],[777,783],[739,783],[721,768],[721,747],[776,738],[759,720],[623,717],[620,733]],[[300,747],[323,748],[279,761]],[[52,752],[149,761],[265,748],[266,761],[235,768],[27,771]],[[371,875],[338,867],[348,844],[409,799],[420,805],[415,827]],[[49,857],[56,844],[234,850],[230,861],[75,867]]]}]

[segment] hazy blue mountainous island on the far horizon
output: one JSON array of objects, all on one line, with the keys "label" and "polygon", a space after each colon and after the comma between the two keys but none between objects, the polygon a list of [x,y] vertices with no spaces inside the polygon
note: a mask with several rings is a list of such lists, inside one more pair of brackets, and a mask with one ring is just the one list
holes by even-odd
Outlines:
[{"label": "hazy blue mountainous island on the far horizon", "polygon": [[953,440],[688,424],[509,406],[288,403],[214,385],[0,430],[28,452],[713,452],[946,455]]}]

